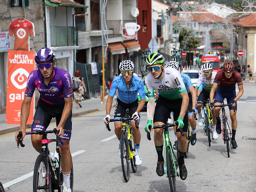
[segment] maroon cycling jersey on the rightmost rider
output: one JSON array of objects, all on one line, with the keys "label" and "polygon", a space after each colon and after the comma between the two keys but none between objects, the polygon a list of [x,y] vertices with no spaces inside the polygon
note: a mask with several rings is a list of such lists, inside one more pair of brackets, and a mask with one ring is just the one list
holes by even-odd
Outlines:
[{"label": "maroon cycling jersey on the rightmost rider", "polygon": [[223,70],[220,70],[214,79],[213,83],[217,83],[218,84],[218,88],[220,88],[220,90],[225,90],[225,91],[231,91],[236,89],[236,83],[238,86],[243,85],[242,82],[242,77],[240,75],[240,73],[238,73],[237,71],[234,71],[232,76],[228,79]]}]

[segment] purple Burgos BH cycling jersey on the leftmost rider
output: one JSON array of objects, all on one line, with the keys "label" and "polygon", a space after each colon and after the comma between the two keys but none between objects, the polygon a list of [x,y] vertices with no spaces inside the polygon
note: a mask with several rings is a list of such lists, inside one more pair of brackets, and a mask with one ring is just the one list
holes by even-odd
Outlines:
[{"label": "purple Burgos BH cycling jersey on the leftmost rider", "polygon": [[53,75],[48,86],[44,84],[43,76],[38,69],[32,71],[28,76],[25,96],[32,97],[35,88],[38,89],[40,98],[51,105],[65,103],[64,98],[72,97],[69,73],[56,67],[53,69]]}]

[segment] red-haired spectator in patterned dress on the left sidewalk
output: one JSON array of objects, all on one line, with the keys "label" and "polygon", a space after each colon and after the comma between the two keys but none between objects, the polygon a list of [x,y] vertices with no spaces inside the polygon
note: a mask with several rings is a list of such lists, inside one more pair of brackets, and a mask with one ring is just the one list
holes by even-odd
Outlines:
[{"label": "red-haired spectator in patterned dress on the left sidewalk", "polygon": [[76,70],[75,75],[72,78],[72,84],[78,82],[78,89],[73,90],[73,96],[76,101],[76,108],[82,107],[81,101],[84,100],[84,93],[86,92],[86,87],[84,84],[84,77],[82,77],[81,72]]}]

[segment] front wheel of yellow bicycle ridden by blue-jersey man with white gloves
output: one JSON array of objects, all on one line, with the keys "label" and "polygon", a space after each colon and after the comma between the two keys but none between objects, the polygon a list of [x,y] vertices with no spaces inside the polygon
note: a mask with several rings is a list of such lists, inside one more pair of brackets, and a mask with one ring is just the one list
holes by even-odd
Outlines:
[{"label": "front wheel of yellow bicycle ridden by blue-jersey man with white gloves", "polygon": [[129,175],[129,147],[128,147],[126,132],[122,132],[120,147],[121,147],[121,163],[122,163],[124,180],[128,182],[129,176],[130,176]]}]

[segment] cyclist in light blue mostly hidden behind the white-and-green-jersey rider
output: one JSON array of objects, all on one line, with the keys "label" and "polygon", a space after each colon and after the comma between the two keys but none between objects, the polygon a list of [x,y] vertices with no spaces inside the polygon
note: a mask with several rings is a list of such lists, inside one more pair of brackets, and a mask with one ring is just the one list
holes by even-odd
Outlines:
[{"label": "cyclist in light blue mostly hidden behind the white-and-green-jersey rider", "polygon": [[[166,64],[166,70],[168,68],[174,68],[179,71],[179,64],[176,61],[169,61]],[[191,78],[186,74],[186,73],[180,73],[182,80],[186,86],[186,90],[188,92],[188,97],[189,97],[189,104],[188,104],[188,121],[191,126],[191,145],[196,144],[196,120],[194,117],[194,114],[197,114],[197,109],[196,109],[196,92],[194,89],[194,86],[191,82]],[[173,145],[173,149],[177,149],[177,134],[176,134],[176,129],[174,129],[175,132],[175,143]]]}]

